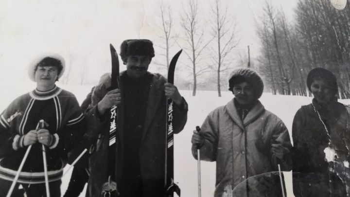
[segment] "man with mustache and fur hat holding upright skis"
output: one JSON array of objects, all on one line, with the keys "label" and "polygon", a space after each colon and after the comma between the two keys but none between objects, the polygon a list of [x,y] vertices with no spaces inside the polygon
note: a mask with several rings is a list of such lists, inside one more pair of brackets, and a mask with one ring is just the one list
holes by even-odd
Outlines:
[{"label": "man with mustache and fur hat holding upright skis", "polygon": [[101,195],[106,182],[109,108],[118,106],[116,182],[121,197],[164,197],[166,148],[166,99],[174,101],[174,132],[187,121],[188,106],[177,88],[155,73],[147,72],[155,56],[147,39],[124,40],[121,57],[126,72],[120,88],[109,90],[107,77],[92,93],[87,135],[97,137],[90,156],[88,195]]}]

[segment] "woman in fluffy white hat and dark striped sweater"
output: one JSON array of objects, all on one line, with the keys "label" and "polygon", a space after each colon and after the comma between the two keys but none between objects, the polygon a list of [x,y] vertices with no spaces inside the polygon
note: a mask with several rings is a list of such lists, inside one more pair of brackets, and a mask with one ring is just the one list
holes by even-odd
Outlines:
[{"label": "woman in fluffy white hat and dark striped sweater", "polygon": [[[28,70],[36,89],[19,96],[1,113],[0,196],[8,193],[30,145],[12,196],[17,196],[19,184],[27,197],[46,195],[42,144],[46,146],[50,196],[61,196],[67,153],[80,137],[84,120],[75,96],[55,85],[64,69],[65,61],[60,55],[40,56]],[[45,121],[45,128],[38,128],[40,120]]]}]

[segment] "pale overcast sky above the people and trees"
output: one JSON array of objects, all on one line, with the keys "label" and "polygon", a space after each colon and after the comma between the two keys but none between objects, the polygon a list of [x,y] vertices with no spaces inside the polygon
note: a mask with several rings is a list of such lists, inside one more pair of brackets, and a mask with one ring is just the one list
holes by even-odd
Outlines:
[{"label": "pale overcast sky above the people and trees", "polygon": [[[227,2],[226,2],[227,1]],[[287,16],[293,15],[297,0],[272,0]],[[94,83],[110,70],[109,43],[118,53],[124,39],[149,38],[163,45],[158,35],[161,0],[1,0],[0,1],[0,86],[21,80],[14,86],[33,84],[27,77],[27,66],[38,54],[55,52],[71,65],[71,84]],[[174,35],[183,35],[180,18],[187,0],[163,0],[171,6]],[[210,11],[213,0],[199,0],[199,15],[210,36]],[[236,49],[251,55],[259,53],[256,24],[259,23],[264,0],[223,0],[228,12],[236,17],[240,43]],[[175,45],[171,55],[181,46]],[[157,53],[157,51],[156,51]],[[158,56],[159,58],[159,56]],[[185,61],[181,55],[179,61]],[[162,60],[160,59],[160,62]],[[165,62],[165,61],[164,61]],[[122,67],[122,70],[125,68]],[[157,72],[150,66],[151,72]],[[67,73],[65,73],[67,74]],[[2,87],[1,87],[2,88]],[[3,90],[3,89],[2,89]]]}]

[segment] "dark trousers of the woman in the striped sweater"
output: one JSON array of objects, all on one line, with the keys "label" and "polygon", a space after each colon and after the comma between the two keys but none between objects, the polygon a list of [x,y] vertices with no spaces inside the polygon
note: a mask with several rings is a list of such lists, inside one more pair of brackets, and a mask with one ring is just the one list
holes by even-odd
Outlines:
[{"label": "dark trousers of the woman in the striped sweater", "polygon": [[[61,197],[61,180],[49,182],[50,197]],[[0,179],[0,197],[6,197],[10,190],[12,181]],[[46,197],[45,183],[40,184],[24,184],[17,183],[11,197],[23,197],[23,190],[18,189],[22,185],[24,193],[27,197]]]}]

